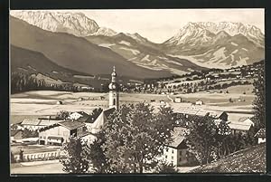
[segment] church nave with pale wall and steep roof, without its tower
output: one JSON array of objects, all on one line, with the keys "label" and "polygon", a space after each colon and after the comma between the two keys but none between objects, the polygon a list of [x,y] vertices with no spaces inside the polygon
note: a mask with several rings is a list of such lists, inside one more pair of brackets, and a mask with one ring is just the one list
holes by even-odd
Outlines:
[{"label": "church nave with pale wall and steep roof, without its tower", "polygon": [[91,124],[91,126],[89,127],[90,132],[91,133],[98,133],[98,131],[100,131],[103,126],[105,125],[105,123],[107,122],[107,120],[109,119],[109,116],[116,110],[116,108],[109,108],[107,110],[103,110],[99,115],[98,118]]}]

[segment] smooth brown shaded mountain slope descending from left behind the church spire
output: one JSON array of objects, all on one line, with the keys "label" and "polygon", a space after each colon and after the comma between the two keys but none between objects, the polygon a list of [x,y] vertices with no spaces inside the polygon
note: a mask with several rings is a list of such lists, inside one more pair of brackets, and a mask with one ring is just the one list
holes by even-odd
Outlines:
[{"label": "smooth brown shaded mountain slope descending from left behind the church spire", "polygon": [[124,57],[108,48],[89,43],[86,39],[72,34],[44,31],[14,17],[10,18],[10,27],[12,44],[43,53],[52,62],[77,72],[108,74],[115,65],[119,75],[136,78],[172,75],[168,71],[139,67],[134,62],[127,62]]}]

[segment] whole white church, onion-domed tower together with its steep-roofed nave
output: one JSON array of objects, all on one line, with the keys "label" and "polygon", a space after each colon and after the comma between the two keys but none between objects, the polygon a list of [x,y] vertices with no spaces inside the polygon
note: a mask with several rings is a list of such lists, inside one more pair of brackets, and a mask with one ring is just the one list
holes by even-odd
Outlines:
[{"label": "whole white church, onion-domed tower together with its steep-roofed nave", "polygon": [[110,114],[112,114],[115,110],[118,110],[119,108],[119,85],[117,83],[117,72],[115,69],[115,66],[113,67],[113,72],[111,74],[111,82],[108,85],[109,88],[109,108],[106,110],[103,110],[97,120],[95,120],[91,124],[91,133],[98,133],[100,131],[104,124],[107,122],[108,117]]}]

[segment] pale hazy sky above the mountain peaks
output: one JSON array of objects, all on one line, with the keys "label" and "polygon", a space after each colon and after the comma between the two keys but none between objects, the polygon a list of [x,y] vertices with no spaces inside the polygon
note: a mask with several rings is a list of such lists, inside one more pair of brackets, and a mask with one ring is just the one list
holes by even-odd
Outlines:
[{"label": "pale hazy sky above the mountain peaks", "polygon": [[[59,11],[59,10],[57,10]],[[67,10],[64,10],[67,12]],[[253,24],[265,33],[265,10],[253,9],[126,9],[70,10],[81,12],[99,26],[120,33],[138,33],[154,43],[163,43],[188,22],[240,22]]]}]

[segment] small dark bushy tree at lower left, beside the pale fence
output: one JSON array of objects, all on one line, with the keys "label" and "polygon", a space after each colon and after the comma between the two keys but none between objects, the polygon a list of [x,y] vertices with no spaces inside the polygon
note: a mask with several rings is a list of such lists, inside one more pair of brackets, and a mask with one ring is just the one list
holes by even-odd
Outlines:
[{"label": "small dark bushy tree at lower left, beside the pale fence", "polygon": [[64,143],[61,150],[66,156],[66,158],[61,159],[63,171],[76,174],[89,171],[88,147],[87,144],[81,142],[81,139],[70,137],[70,140]]}]

